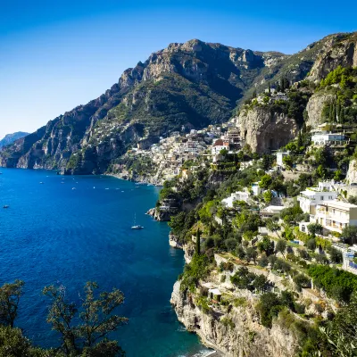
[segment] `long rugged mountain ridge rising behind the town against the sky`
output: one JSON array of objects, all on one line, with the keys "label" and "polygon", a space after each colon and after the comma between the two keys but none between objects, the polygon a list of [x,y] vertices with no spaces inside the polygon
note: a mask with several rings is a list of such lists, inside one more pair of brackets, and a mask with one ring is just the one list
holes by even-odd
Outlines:
[{"label": "long rugged mountain ridge rising behind the town against the sky", "polygon": [[356,33],[330,35],[293,55],[197,39],[170,44],[124,71],[104,95],[6,147],[0,165],[101,173],[132,145],[145,148],[183,126],[227,121],[268,81],[319,80],[346,63],[357,65]]}]

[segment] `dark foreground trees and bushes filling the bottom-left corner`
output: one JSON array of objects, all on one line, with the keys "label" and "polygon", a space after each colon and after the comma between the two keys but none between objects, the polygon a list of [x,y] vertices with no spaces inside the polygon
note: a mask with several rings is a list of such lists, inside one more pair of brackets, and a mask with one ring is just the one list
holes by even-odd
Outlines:
[{"label": "dark foreground trees and bushes filling the bottom-left corner", "polygon": [[34,347],[14,328],[18,316],[24,283],[16,280],[0,287],[0,356],[4,357],[119,357],[124,351],[117,341],[108,338],[112,331],[126,324],[128,319],[114,314],[124,302],[118,289],[97,293],[95,282],[88,282],[80,304],[70,303],[64,286],[46,286],[44,295],[50,305],[47,322],[61,336],[61,345],[51,350]]}]

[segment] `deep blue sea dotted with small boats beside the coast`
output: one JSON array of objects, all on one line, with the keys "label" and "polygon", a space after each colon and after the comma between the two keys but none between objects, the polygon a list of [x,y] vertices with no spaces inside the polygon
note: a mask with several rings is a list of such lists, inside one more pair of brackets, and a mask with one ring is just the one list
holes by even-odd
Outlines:
[{"label": "deep blue sea dotted with small boats beside the coast", "polygon": [[[76,300],[92,280],[102,289],[120,288],[126,297],[119,313],[129,325],[115,337],[128,357],[204,351],[170,307],[184,261],[168,244],[167,224],[145,215],[154,207],[157,187],[45,170],[0,170],[0,284],[16,278],[26,283],[16,321],[25,335],[37,345],[58,345],[46,323],[43,287],[62,284]],[[4,204],[10,207],[3,209]],[[135,213],[142,230],[130,229]]]}]

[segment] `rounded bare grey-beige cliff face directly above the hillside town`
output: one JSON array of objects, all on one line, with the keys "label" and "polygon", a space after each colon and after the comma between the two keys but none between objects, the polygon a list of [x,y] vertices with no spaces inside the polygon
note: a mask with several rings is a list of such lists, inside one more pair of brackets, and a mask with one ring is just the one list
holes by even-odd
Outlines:
[{"label": "rounded bare grey-beige cliff face directly above the hillside town", "polygon": [[269,108],[255,106],[240,112],[237,118],[245,144],[259,154],[277,150],[294,139],[298,133],[294,119],[286,114],[270,112]]}]

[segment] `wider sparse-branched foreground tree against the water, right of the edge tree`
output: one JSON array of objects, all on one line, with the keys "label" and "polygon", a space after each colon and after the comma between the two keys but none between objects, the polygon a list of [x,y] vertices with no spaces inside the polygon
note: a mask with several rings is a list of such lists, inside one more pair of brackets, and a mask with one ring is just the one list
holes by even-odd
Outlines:
[{"label": "wider sparse-branched foreground tree against the water, right of the edge tree", "polygon": [[100,355],[94,354],[98,349],[105,350],[108,357],[124,355],[116,341],[106,339],[109,333],[128,322],[128,319],[113,314],[124,302],[124,295],[115,288],[110,293],[98,295],[95,294],[97,288],[95,282],[87,282],[85,297],[80,297],[79,307],[67,301],[64,286],[46,286],[43,290],[51,300],[47,322],[61,334],[62,350],[67,355],[82,351],[87,356]]}]

